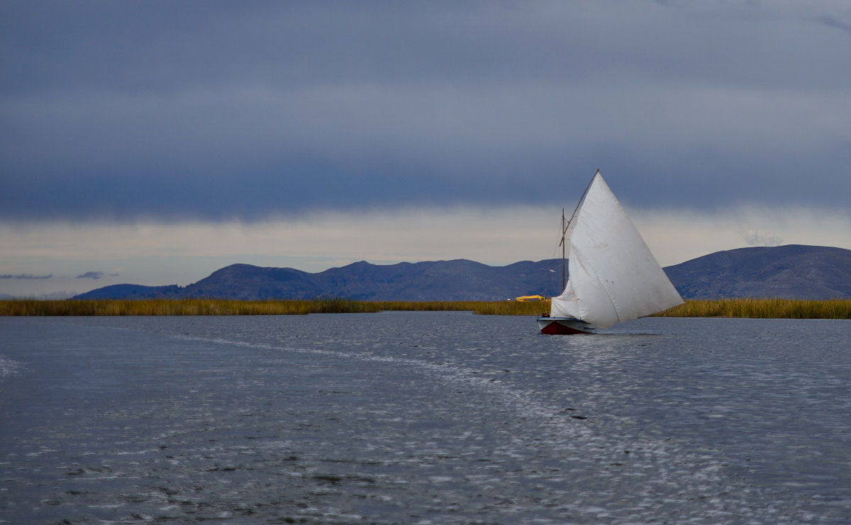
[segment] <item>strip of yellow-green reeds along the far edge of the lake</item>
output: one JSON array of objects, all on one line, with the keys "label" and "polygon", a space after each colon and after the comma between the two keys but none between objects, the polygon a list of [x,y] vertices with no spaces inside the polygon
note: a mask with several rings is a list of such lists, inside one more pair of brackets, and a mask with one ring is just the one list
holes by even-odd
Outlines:
[{"label": "strip of yellow-green reeds along the far edge of the lake", "polygon": [[[483,315],[540,315],[549,302],[454,301],[402,302],[309,299],[238,301],[227,299],[9,299],[0,301],[0,316],[91,315],[305,315],[308,313],[378,313],[384,311],[470,311]],[[719,299],[686,301],[656,317],[728,317],[761,319],[851,319],[851,299]]]}]

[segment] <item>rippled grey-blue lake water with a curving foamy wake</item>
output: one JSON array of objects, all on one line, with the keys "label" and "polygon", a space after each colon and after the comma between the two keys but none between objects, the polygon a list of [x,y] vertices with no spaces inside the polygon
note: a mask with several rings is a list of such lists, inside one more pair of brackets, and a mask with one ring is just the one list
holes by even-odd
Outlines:
[{"label": "rippled grey-blue lake water with a curving foamy wake", "polygon": [[0,318],[0,522],[851,521],[851,321]]}]

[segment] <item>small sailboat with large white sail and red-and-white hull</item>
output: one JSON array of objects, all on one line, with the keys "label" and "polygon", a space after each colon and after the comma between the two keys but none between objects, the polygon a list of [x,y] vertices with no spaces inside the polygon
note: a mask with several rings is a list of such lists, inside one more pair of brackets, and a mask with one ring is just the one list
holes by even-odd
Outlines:
[{"label": "small sailboat with large white sail and red-and-white hull", "polygon": [[599,170],[567,222],[562,212],[561,246],[568,279],[542,334],[592,334],[683,302]]}]

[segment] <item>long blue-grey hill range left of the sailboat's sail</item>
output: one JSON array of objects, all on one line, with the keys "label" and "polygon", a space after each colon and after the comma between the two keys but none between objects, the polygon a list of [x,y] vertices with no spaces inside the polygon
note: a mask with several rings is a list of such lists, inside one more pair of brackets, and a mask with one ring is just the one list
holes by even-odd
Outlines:
[{"label": "long blue-grey hill range left of the sailboat's sail", "polygon": [[488,266],[465,259],[370,264],[354,262],[317,274],[294,268],[231,264],[180,286],[112,285],[75,299],[206,297],[221,299],[311,299],[346,297],[364,301],[504,301],[516,296],[560,292],[561,259]]}]

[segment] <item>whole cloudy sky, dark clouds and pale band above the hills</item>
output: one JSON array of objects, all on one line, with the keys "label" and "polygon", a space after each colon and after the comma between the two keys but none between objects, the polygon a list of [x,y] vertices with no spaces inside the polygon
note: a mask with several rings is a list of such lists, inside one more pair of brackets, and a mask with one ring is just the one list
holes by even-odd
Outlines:
[{"label": "whole cloudy sky, dark clouds and pale band above the hills", "polygon": [[0,3],[0,294],[555,257],[597,168],[663,265],[851,248],[851,4]]}]

